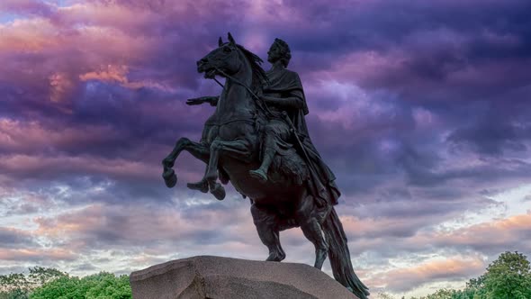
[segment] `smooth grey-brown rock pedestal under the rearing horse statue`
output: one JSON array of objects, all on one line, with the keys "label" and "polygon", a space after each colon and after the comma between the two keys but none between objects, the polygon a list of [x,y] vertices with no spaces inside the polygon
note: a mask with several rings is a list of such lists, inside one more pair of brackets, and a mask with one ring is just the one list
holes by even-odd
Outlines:
[{"label": "smooth grey-brown rock pedestal under the rearing horse statue", "polygon": [[304,264],[193,257],[130,275],[133,299],[357,299],[345,286]]}]

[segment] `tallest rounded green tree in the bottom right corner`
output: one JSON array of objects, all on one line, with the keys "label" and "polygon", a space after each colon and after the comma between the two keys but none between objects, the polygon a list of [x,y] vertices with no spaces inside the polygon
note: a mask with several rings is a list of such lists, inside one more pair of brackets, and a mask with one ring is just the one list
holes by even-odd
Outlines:
[{"label": "tallest rounded green tree in the bottom right corner", "polygon": [[487,267],[483,282],[489,299],[531,298],[531,267],[518,251],[506,251]]}]

